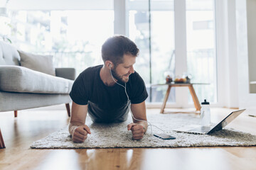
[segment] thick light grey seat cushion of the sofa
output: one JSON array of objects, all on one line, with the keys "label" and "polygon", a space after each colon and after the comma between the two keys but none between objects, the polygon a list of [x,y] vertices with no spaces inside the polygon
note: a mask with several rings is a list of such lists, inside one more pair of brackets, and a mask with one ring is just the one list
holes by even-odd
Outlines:
[{"label": "thick light grey seat cushion of the sofa", "polygon": [[53,77],[20,66],[0,66],[0,91],[69,94],[72,80]]}]

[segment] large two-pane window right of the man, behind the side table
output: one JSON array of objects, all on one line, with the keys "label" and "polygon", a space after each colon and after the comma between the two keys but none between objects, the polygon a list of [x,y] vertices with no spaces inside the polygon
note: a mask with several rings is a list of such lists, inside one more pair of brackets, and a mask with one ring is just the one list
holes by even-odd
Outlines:
[{"label": "large two-pane window right of the man, behind the side table", "polygon": [[[173,78],[191,75],[191,82],[208,84],[194,85],[198,99],[203,101],[206,98],[210,102],[216,102],[214,0],[182,1],[184,3],[175,2],[179,5],[176,5],[174,10],[174,1],[171,0],[127,0],[129,37],[137,42],[141,50],[136,69],[147,84],[149,92],[147,101],[152,103],[163,101],[166,86],[151,85],[164,84],[168,73]],[[175,16],[175,11],[184,13],[186,17]],[[175,26],[177,22],[182,23],[182,21],[184,25]],[[185,39],[181,38],[182,41],[179,40],[179,45],[184,47],[178,46],[178,48],[186,50],[186,60],[183,60],[180,54],[176,55],[175,43],[178,41],[175,38],[180,38],[181,35],[186,36]],[[179,72],[176,72],[176,68]],[[176,89],[171,89],[169,103],[175,106],[178,104],[181,107],[193,103],[189,93],[182,94]],[[179,102],[176,103],[176,101]]]}]

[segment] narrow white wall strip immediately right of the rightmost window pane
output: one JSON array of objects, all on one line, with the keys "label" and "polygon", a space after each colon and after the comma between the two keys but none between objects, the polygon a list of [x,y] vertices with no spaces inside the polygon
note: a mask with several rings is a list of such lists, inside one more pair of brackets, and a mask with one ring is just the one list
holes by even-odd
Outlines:
[{"label": "narrow white wall strip immediately right of the rightmost window pane", "polygon": [[215,0],[218,107],[238,108],[235,1]]}]

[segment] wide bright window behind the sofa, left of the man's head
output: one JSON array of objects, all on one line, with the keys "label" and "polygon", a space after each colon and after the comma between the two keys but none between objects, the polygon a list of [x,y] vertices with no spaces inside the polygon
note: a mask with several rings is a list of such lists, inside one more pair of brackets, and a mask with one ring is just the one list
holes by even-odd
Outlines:
[{"label": "wide bright window behind the sofa, left of the man's head", "polygon": [[113,10],[21,10],[10,11],[9,18],[5,35],[13,44],[53,55],[55,67],[74,67],[77,74],[102,64],[101,45],[114,33]]}]

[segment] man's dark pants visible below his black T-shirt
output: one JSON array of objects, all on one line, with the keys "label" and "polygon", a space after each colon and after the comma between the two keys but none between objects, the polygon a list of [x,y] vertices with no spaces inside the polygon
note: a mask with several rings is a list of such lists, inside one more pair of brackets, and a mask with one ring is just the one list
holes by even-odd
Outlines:
[{"label": "man's dark pants visible below his black T-shirt", "polygon": [[97,104],[88,101],[88,113],[95,123],[119,123],[127,120],[130,105],[131,102],[128,101],[120,108],[104,111]]}]

